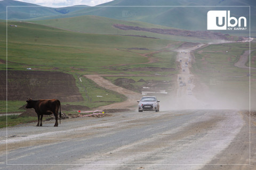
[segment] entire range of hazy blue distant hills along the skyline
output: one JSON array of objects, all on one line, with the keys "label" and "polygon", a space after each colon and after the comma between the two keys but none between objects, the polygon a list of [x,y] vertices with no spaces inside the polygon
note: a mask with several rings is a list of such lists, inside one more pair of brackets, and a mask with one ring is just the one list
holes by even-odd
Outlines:
[{"label": "entire range of hazy blue distant hills along the skyline", "polygon": [[[0,13],[0,19],[6,19],[6,12],[4,12],[6,5],[28,6],[34,4],[10,0],[0,1],[0,9],[3,11]],[[236,18],[245,16],[247,25],[250,24],[249,10],[251,10],[251,30],[256,30],[254,29],[256,28],[256,1],[250,0],[115,0],[94,7],[71,6],[50,8],[37,6],[21,8],[10,7],[8,19],[50,20],[82,15],[97,15],[125,21],[148,22],[186,30],[207,30],[207,12],[210,10],[230,10],[230,15]],[[225,33],[225,31],[222,32]]]}]

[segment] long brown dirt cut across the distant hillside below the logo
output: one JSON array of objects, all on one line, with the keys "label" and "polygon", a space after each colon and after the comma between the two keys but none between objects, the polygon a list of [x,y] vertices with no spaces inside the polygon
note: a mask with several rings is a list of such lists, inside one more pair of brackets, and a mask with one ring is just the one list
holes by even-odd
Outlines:
[{"label": "long brown dirt cut across the distant hillside below the logo", "polygon": [[[174,36],[183,36],[183,37],[196,37],[202,39],[219,39],[219,40],[230,40],[234,41],[234,37],[219,32],[211,32],[211,31],[189,31],[189,30],[179,30],[179,29],[160,29],[160,28],[142,28],[142,27],[134,27],[130,25],[123,24],[114,24],[115,28],[122,30],[136,30],[136,31],[146,31],[146,32],[154,32],[161,33],[164,35],[174,35]],[[243,41],[243,37],[239,37],[238,41]]]}]

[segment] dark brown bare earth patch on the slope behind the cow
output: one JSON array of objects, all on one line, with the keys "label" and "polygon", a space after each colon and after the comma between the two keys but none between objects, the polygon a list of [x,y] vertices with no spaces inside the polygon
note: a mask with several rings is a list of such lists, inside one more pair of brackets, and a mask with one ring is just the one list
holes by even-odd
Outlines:
[{"label": "dark brown bare earth patch on the slope behind the cow", "polygon": [[[6,71],[0,71],[0,100],[6,99]],[[84,101],[73,75],[50,71],[8,71],[8,99]]]}]

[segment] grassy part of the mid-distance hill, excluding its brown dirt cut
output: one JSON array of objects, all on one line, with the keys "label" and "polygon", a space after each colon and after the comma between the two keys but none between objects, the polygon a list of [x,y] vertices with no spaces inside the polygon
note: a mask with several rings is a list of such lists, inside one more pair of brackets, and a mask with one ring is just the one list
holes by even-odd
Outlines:
[{"label": "grassy part of the mid-distance hill, excluding its brown dirt cut", "polygon": [[[163,25],[150,24],[147,22],[141,21],[123,21],[105,18],[101,16],[93,16],[93,15],[84,15],[84,16],[75,16],[71,18],[62,18],[62,19],[54,19],[54,20],[38,20],[38,21],[30,21],[33,23],[49,25],[51,27],[62,28],[72,31],[78,31],[82,33],[93,33],[93,34],[111,34],[111,35],[138,35],[138,36],[147,36],[149,38],[160,38],[167,40],[177,40],[177,41],[190,41],[190,42],[199,42],[199,43],[209,43],[212,42],[213,39],[209,37],[209,32],[201,32],[201,35],[205,36],[187,36],[179,35],[178,32],[186,31],[186,30],[177,30],[176,34],[162,34],[161,31],[158,32],[150,32],[150,31],[142,31],[138,30],[138,28],[143,29],[165,29],[170,30],[173,29],[171,27],[166,27]],[[122,24],[129,25],[134,27],[133,30],[125,30],[116,28],[114,25]],[[137,28],[137,29],[136,29]],[[217,39],[218,38],[214,38]]]}]

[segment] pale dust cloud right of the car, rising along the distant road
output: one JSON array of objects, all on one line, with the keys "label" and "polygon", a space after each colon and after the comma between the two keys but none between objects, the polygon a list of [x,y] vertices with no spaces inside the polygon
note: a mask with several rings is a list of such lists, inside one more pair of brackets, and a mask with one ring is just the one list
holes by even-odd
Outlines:
[{"label": "pale dust cloud right of the car, rising along the distant road", "polygon": [[[219,43],[224,43],[220,41]],[[227,41],[225,43],[228,43]],[[193,50],[204,46],[194,45],[178,49],[177,61],[180,63],[180,72],[177,75],[177,83],[169,95],[158,97],[161,100],[161,111],[170,111],[175,109],[235,109],[249,110],[255,109],[255,97],[250,95],[249,81],[239,84],[230,82],[210,80],[209,83],[203,83],[197,75],[190,73],[191,53]]]}]

